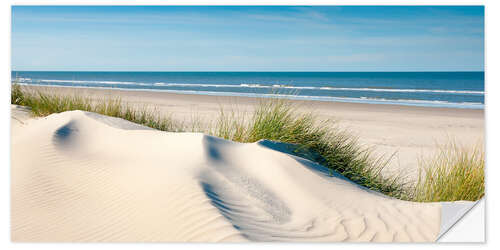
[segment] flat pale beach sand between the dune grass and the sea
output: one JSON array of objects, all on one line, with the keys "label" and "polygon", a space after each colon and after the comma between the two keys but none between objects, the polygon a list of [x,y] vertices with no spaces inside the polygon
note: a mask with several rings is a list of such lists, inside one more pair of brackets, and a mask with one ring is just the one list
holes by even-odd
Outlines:
[{"label": "flat pale beach sand between the dune grass and the sea", "polygon": [[[28,86],[27,86],[28,87]],[[250,114],[257,98],[172,94],[152,91],[92,88],[38,87],[55,94],[82,94],[95,99],[120,97],[138,107],[155,107],[160,113],[190,122],[211,122],[224,110]],[[417,178],[419,158],[429,158],[448,142],[462,145],[484,143],[484,110],[429,108],[402,105],[360,104],[324,101],[291,101],[299,110],[313,111],[321,120],[335,124],[359,138],[374,156],[391,157],[384,171]],[[197,119],[194,119],[197,117]]]}]

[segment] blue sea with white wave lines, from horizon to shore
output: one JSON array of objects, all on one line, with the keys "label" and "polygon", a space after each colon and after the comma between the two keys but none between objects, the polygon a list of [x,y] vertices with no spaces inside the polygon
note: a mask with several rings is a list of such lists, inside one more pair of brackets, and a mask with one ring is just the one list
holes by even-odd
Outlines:
[{"label": "blue sea with white wave lines, from horizon to shore", "polygon": [[484,72],[12,71],[25,85],[484,109]]}]

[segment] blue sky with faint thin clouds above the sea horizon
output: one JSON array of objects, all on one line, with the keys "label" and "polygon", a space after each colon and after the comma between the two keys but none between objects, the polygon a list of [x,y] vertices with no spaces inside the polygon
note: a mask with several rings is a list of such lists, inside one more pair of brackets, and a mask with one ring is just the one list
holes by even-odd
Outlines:
[{"label": "blue sky with faint thin clouds above the sea horizon", "polygon": [[481,6],[14,6],[12,70],[482,71]]}]

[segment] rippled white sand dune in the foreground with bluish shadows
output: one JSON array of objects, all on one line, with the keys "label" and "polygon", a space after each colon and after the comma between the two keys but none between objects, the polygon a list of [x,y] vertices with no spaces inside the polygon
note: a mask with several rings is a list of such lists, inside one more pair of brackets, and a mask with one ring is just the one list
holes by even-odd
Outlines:
[{"label": "rippled white sand dune in the foreground with bluish shadows", "polygon": [[11,237],[35,242],[431,242],[473,202],[414,203],[269,141],[13,109]]}]

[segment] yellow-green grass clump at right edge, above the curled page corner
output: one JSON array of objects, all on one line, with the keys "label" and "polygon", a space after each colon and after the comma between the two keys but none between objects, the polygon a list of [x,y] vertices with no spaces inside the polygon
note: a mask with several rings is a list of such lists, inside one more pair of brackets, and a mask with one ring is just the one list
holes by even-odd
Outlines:
[{"label": "yellow-green grass clump at right edge, above the curled page corner", "polygon": [[482,147],[450,143],[436,156],[421,160],[413,200],[421,202],[479,200],[484,196]]}]

